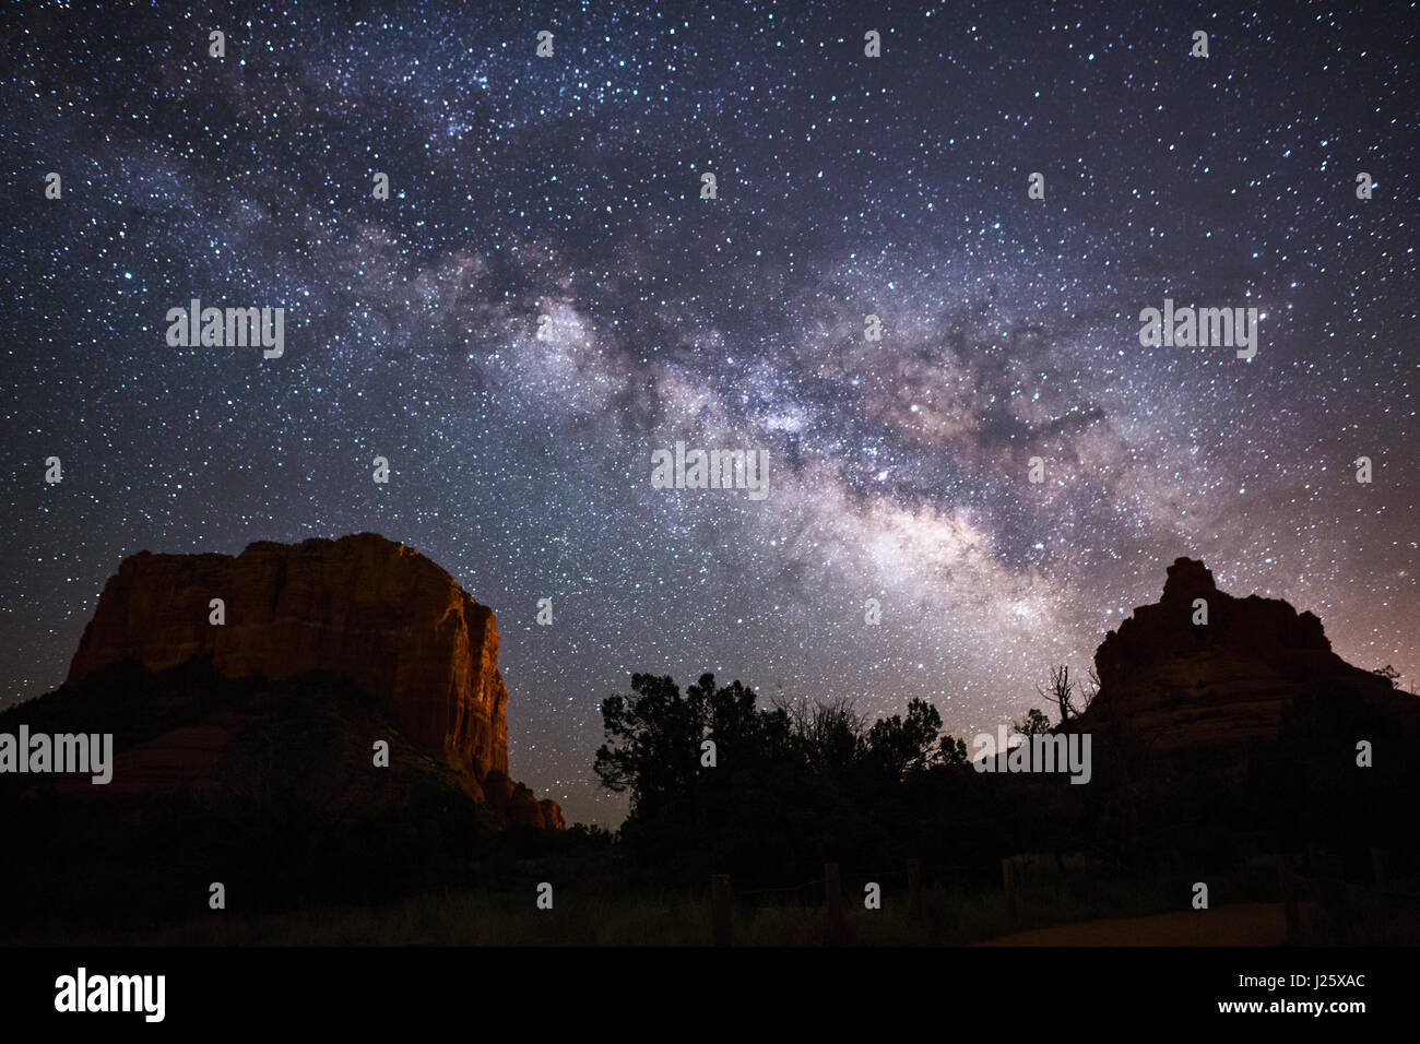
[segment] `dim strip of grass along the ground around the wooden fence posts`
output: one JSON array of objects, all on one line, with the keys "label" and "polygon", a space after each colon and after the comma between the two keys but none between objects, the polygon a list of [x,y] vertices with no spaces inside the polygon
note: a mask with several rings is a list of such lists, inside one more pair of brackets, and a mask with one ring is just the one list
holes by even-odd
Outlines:
[{"label": "dim strip of grass along the ground around the wooden fence posts", "polygon": [[[1066,858],[1012,861],[1018,918],[1012,922],[1000,885],[937,881],[923,888],[920,923],[907,916],[906,889],[885,882],[882,909],[869,910],[845,885],[848,940],[861,946],[963,946],[1001,936],[1160,913],[1191,913],[1194,876],[1180,869],[1146,876]],[[383,905],[312,905],[247,915],[240,902],[182,922],[125,933],[74,937],[58,925],[26,943],[189,946],[709,946],[710,902],[692,889],[632,891],[606,876],[555,885],[554,909],[535,905],[535,882],[558,881],[557,865],[524,865],[527,886],[470,883],[427,891]],[[1275,902],[1275,868],[1267,861],[1228,874],[1204,874],[1210,905]],[[229,902],[231,899],[229,898]],[[737,946],[821,946],[825,915],[819,889],[784,903],[755,905],[740,896],[733,910]],[[7,940],[7,942],[21,942]]]}]

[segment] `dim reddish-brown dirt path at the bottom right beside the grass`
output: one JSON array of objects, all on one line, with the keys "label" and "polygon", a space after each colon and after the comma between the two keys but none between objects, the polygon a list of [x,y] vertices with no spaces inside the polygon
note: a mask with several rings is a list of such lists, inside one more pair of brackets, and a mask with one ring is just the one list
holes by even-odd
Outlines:
[{"label": "dim reddish-brown dirt path at the bottom right beside the grass", "polygon": [[1017,932],[981,946],[1282,946],[1282,903],[1250,902],[1153,918],[1119,918]]}]

